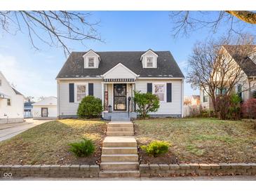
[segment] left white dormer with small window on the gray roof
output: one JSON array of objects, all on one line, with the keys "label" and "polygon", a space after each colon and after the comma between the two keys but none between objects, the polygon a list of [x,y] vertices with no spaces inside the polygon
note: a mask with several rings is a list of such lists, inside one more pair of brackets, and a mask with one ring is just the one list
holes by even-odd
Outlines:
[{"label": "left white dormer with small window on the gray roof", "polygon": [[86,54],[83,55],[83,63],[85,69],[95,69],[99,67],[100,55],[97,55],[93,50],[88,50]]}]

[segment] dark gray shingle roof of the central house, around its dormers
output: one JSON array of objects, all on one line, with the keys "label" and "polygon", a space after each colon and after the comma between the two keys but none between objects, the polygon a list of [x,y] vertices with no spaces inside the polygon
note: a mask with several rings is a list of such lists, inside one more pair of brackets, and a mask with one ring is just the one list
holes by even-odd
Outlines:
[{"label": "dark gray shingle roof of the central house, around its dormers", "polygon": [[140,56],[144,51],[114,51],[114,52],[95,52],[100,55],[101,61],[98,69],[84,69],[83,55],[86,52],[72,52],[60,70],[57,78],[74,77],[97,77],[105,74],[116,64],[121,62],[140,77],[175,77],[184,78],[180,67],[175,62],[170,51],[155,51],[157,58],[157,68],[142,68]]}]

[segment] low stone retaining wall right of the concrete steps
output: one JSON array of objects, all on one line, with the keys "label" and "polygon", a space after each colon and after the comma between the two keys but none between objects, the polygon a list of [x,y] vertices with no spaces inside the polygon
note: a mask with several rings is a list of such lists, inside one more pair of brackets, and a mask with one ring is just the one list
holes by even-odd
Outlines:
[{"label": "low stone retaining wall right of the concrete steps", "polygon": [[220,164],[140,164],[141,177],[171,177],[191,175],[256,175],[256,163]]}]

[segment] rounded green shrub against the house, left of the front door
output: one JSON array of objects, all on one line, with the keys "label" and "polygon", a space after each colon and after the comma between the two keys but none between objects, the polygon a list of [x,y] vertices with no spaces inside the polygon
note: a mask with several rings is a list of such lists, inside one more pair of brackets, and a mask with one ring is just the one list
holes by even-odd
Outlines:
[{"label": "rounded green shrub against the house, left of the front door", "polygon": [[102,101],[99,98],[88,95],[81,100],[77,115],[79,118],[94,118],[100,116],[102,110]]}]

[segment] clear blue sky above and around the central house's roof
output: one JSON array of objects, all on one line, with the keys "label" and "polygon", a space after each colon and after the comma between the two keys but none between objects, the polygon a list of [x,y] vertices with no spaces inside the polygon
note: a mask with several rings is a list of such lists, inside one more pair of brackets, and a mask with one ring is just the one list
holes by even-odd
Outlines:
[{"label": "clear blue sky above and around the central house's roof", "polygon": [[[196,41],[208,36],[208,29],[192,33],[189,37],[174,39],[168,11],[98,11],[90,12],[92,20],[100,20],[97,27],[105,43],[87,41],[86,46],[69,44],[72,50],[170,50],[186,75],[187,59]],[[220,29],[219,34],[224,30]],[[15,36],[0,30],[0,71],[8,81],[25,96],[56,96],[55,76],[66,57],[62,48],[49,48],[39,43],[34,50],[27,34]],[[184,95],[198,94],[189,84],[184,85]]]}]

